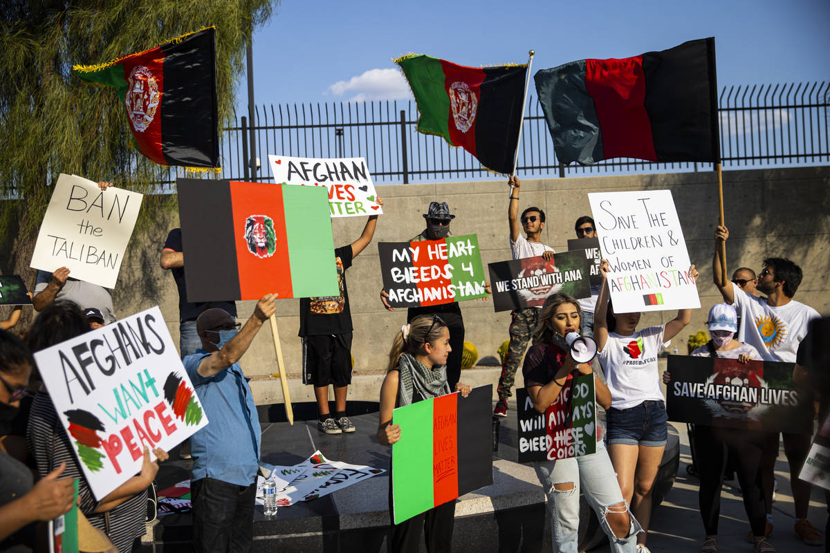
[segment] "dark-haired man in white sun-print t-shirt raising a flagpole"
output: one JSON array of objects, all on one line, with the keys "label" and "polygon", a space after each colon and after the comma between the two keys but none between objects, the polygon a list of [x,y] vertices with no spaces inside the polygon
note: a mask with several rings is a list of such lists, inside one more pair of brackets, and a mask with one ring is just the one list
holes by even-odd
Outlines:
[{"label": "dark-haired man in white sun-print t-shirt raising a flagpole", "polygon": [[[758,274],[756,288],[765,293],[766,298],[746,293],[731,282],[722,282],[722,263],[720,259],[720,242],[729,238],[725,226],[715,230],[715,256],[712,259],[712,273],[715,286],[720,289],[726,303],[735,305],[740,314],[741,325],[739,341],[754,346],[764,361],[784,361],[794,363],[798,344],[808,331],[813,319],[820,318],[818,311],[793,299],[798,284],[801,284],[802,270],[797,264],[779,257],[764,260],[764,268]],[[798,478],[804,460],[810,449],[811,434],[783,434],[784,453],[787,455],[793,500],[795,503],[795,531],[799,537],[811,546],[822,544],[822,536],[807,520],[810,502],[810,485]],[[770,455],[778,451],[778,435],[769,444]],[[772,493],[768,487],[767,533],[772,531]]]}]

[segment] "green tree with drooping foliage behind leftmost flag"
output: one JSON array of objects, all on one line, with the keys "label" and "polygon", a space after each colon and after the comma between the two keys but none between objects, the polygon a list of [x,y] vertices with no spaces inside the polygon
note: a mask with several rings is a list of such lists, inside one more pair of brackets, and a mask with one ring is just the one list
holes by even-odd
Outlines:
[{"label": "green tree with drooping foliage behind leftmost flag", "polygon": [[[37,229],[59,173],[149,192],[176,169],[144,158],[130,143],[124,108],[109,87],[71,74],[216,26],[220,129],[232,118],[248,38],[271,17],[273,0],[5,0],[0,10],[0,267],[28,268]],[[181,174],[181,169],[178,170]],[[144,196],[139,231],[174,196]],[[24,311],[24,316],[31,313]],[[23,321],[25,323],[25,321]]]}]

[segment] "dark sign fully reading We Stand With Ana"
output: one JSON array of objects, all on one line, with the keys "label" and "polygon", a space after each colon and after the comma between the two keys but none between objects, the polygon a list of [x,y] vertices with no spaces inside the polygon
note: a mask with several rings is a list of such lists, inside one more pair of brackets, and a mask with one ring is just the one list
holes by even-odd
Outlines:
[{"label": "dark sign fully reading We Stand With Ana", "polygon": [[588,298],[588,260],[583,252],[555,254],[550,260],[526,257],[487,265],[496,311],[541,307],[554,293]]}]

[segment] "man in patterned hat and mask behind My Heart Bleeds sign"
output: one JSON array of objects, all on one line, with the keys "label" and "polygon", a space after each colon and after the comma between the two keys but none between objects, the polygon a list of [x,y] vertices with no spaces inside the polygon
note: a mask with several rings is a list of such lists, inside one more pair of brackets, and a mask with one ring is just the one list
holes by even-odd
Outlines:
[{"label": "man in patterned hat and mask behind My Heart Bleeds sign", "polygon": [[[441,203],[431,201],[427,213],[422,214],[427,220],[427,228],[421,234],[414,236],[410,242],[422,240],[441,240],[450,234],[450,221],[456,216],[450,213],[446,201]],[[388,303],[389,294],[386,290],[380,291],[380,301],[388,311],[394,311]],[[457,302],[441,303],[418,308],[409,308],[407,311],[407,323],[418,315],[437,315],[450,330],[450,357],[447,358],[447,382],[450,390],[455,390],[458,380],[461,378],[461,353],[464,350],[464,319],[461,318],[461,308]]]}]

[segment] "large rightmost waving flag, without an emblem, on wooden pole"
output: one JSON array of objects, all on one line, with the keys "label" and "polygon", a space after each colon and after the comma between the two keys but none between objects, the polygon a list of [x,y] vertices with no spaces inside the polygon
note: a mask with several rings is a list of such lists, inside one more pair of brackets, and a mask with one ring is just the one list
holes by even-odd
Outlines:
[{"label": "large rightmost waving flag, without an emblem, on wooden pole", "polygon": [[715,38],[534,75],[561,163],[720,163]]}]

